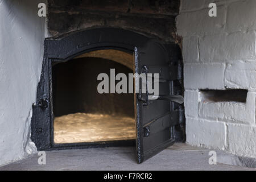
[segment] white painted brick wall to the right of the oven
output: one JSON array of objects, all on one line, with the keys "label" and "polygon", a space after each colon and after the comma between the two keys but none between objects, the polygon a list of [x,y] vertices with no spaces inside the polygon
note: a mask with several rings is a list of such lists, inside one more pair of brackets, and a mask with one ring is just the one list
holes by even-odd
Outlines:
[{"label": "white painted brick wall to the right of the oven", "polygon": [[[217,17],[208,16],[209,3]],[[187,142],[256,158],[256,1],[181,0]],[[246,103],[203,102],[200,89],[247,89]]]}]

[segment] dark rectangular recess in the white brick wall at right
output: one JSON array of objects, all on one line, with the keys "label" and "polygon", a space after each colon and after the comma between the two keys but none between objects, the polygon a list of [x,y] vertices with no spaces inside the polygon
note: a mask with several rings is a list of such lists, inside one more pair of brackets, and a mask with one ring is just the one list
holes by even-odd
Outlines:
[{"label": "dark rectangular recess in the white brick wall at right", "polygon": [[200,90],[201,102],[246,102],[248,90]]}]

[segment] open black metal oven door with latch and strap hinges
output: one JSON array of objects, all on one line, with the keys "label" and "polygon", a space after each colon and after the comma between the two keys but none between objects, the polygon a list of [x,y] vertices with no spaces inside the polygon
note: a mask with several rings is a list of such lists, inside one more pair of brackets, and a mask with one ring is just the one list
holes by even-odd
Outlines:
[{"label": "open black metal oven door with latch and strap hinges", "polygon": [[[157,40],[135,47],[134,73],[152,73],[153,83],[157,80],[154,73],[159,74],[159,96],[152,97],[154,93],[148,92],[134,94],[138,163],[174,143],[174,126],[179,122],[179,111],[171,111],[171,79],[177,71],[169,66],[168,59],[166,48]],[[150,84],[148,80],[146,83]],[[180,97],[176,100],[182,100]],[[150,100],[152,98],[154,100]]]}]

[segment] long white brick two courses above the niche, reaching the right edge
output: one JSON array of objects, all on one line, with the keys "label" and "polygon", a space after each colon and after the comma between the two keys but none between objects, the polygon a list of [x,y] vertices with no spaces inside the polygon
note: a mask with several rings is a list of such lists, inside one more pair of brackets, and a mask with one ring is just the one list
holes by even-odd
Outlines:
[{"label": "long white brick two courses above the niche, reaching the right edge", "polygon": [[200,39],[200,60],[227,61],[256,59],[255,32],[209,35]]}]

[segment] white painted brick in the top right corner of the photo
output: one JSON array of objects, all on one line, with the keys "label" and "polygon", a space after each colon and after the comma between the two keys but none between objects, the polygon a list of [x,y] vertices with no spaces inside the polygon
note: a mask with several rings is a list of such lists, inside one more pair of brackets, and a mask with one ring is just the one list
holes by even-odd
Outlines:
[{"label": "white painted brick in the top right corner of the photo", "polygon": [[238,1],[228,6],[228,32],[256,29],[256,1]]}]

